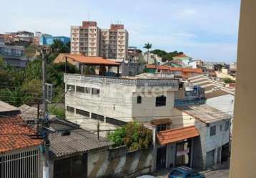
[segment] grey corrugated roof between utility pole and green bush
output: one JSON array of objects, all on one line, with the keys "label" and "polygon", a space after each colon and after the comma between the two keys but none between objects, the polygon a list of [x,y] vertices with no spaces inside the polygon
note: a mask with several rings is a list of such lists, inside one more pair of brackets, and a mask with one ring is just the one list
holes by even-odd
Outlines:
[{"label": "grey corrugated roof between utility pole and green bush", "polygon": [[61,132],[49,134],[50,153],[53,158],[64,157],[77,153],[87,152],[89,150],[109,147],[110,142],[104,137],[87,130],[76,129],[70,131],[70,135],[61,136]]}]

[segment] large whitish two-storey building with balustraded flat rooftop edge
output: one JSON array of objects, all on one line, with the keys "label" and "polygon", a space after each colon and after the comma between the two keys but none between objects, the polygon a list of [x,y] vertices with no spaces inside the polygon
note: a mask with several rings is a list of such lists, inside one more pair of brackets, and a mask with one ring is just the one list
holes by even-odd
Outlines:
[{"label": "large whitish two-storey building with balustraded flat rooftop edge", "polygon": [[150,120],[171,115],[174,91],[179,82],[173,78],[103,77],[65,74],[67,120],[91,118],[113,125],[133,120]]}]

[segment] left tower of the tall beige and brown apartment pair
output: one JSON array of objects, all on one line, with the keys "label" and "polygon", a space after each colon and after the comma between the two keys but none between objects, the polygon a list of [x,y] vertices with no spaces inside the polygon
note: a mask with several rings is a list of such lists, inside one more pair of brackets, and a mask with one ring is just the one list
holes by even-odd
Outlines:
[{"label": "left tower of the tall beige and brown apartment pair", "polygon": [[99,56],[100,29],[96,21],[83,21],[82,26],[71,27],[71,53]]}]

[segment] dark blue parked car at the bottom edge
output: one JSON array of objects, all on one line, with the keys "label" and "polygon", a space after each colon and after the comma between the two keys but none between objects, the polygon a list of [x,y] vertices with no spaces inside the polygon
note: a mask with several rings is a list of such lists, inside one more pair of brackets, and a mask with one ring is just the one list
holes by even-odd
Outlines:
[{"label": "dark blue parked car at the bottom edge", "polygon": [[169,173],[169,178],[205,178],[205,175],[195,172],[190,167],[175,167]]}]

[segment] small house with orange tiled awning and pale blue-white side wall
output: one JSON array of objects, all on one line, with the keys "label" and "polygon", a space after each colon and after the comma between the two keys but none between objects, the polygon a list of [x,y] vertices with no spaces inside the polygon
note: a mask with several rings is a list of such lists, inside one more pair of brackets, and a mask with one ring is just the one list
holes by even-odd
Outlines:
[{"label": "small house with orange tiled awning and pale blue-white side wall", "polygon": [[207,169],[227,160],[230,115],[225,112],[208,105],[183,105],[150,124],[156,135],[152,169]]}]

